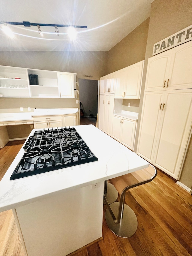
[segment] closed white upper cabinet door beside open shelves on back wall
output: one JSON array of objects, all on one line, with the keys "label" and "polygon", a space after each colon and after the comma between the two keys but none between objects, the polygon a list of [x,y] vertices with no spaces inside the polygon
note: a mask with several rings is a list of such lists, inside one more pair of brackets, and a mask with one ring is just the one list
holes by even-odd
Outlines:
[{"label": "closed white upper cabinet door beside open shelves on back wall", "polygon": [[58,72],[58,86],[61,98],[74,98],[73,73]]}]

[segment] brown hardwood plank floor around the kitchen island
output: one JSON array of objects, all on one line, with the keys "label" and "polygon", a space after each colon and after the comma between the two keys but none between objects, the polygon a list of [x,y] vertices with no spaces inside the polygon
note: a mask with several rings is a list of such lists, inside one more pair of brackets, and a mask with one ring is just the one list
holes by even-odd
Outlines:
[{"label": "brown hardwood plank floor around the kitchen island", "polygon": [[[9,142],[0,150],[0,179],[23,143]],[[173,179],[158,170],[152,182],[130,189],[125,202],[138,219],[132,237],[121,238],[111,232],[105,222],[104,205],[103,239],[70,255],[192,255],[192,196]],[[0,256],[25,256],[11,210],[0,213]]]}]

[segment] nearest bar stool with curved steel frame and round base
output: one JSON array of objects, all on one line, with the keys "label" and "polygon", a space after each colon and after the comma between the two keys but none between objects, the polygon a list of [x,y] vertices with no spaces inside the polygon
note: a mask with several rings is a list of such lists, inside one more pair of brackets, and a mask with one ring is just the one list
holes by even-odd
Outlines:
[{"label": "nearest bar stool with curved steel frame and round base", "polygon": [[148,183],[155,179],[157,170],[149,164],[149,167],[132,173],[110,179],[120,194],[119,202],[114,202],[109,205],[104,194],[104,201],[107,205],[105,212],[105,220],[110,230],[120,237],[130,237],[137,230],[137,217],[134,211],[125,204],[125,193],[130,188]]}]

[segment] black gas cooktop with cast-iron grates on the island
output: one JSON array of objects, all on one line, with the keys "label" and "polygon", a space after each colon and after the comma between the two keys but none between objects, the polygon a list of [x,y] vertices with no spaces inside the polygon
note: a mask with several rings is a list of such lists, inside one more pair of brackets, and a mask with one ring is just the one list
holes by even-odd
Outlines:
[{"label": "black gas cooktop with cast-iron grates on the island", "polygon": [[78,164],[98,161],[75,128],[61,127],[35,131],[10,180]]}]

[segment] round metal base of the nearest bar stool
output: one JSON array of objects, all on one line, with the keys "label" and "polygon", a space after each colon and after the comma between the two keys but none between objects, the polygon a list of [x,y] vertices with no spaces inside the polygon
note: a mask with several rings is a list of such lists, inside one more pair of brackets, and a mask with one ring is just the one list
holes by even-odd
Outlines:
[{"label": "round metal base of the nearest bar stool", "polygon": [[[119,202],[112,203],[110,207],[117,218]],[[113,221],[108,209],[105,212],[105,220],[110,230],[120,237],[133,236],[137,230],[137,217],[134,211],[126,204],[124,204],[123,218],[119,224]]]}]

